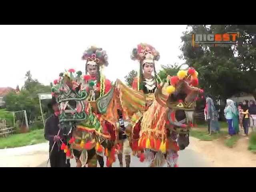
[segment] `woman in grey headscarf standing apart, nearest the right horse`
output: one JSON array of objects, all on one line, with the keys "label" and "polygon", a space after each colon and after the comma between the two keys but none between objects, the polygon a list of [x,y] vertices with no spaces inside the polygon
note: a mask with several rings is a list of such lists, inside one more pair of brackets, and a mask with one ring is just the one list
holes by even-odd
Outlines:
[{"label": "woman in grey headscarf standing apart, nearest the right horse", "polygon": [[208,122],[208,132],[212,134],[213,132],[220,132],[220,126],[218,122],[218,114],[216,112],[212,98],[206,98],[206,105],[204,109],[206,120]]}]

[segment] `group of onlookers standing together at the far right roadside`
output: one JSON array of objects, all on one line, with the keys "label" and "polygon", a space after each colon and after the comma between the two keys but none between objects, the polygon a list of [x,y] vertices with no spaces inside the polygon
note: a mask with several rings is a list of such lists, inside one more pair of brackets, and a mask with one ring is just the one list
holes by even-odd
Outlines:
[{"label": "group of onlookers standing together at the far right roadside", "polygon": [[227,99],[224,115],[228,123],[228,134],[230,136],[239,134],[243,130],[244,136],[248,136],[249,128],[256,128],[256,104],[254,100],[244,100],[238,104]]}]

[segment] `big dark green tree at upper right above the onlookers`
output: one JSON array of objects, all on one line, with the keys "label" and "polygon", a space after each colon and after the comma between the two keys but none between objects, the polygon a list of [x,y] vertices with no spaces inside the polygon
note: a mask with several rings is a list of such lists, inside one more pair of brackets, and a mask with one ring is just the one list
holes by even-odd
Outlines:
[{"label": "big dark green tree at upper right above the onlookers", "polygon": [[[202,45],[192,47],[192,34],[225,33],[230,31],[240,31],[244,36],[244,30],[237,25],[188,25],[191,30],[187,30],[181,37],[184,44],[181,47],[181,58],[186,60],[186,64],[196,68],[199,73],[200,87],[212,97],[227,98],[242,91],[252,92],[252,85],[248,85],[248,72],[245,71],[244,64],[235,56],[241,53],[239,46],[230,47],[208,47]],[[187,28],[188,29],[188,28]],[[243,40],[245,42],[246,40]],[[241,53],[240,58],[246,55]],[[239,54],[238,54],[239,55]],[[252,66],[252,59],[249,62]],[[247,80],[247,85],[246,84]],[[254,88],[255,90],[255,88]]]}]

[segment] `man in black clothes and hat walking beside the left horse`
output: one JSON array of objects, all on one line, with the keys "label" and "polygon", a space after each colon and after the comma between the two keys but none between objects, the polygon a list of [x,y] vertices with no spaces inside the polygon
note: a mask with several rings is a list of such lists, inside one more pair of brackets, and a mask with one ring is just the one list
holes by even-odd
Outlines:
[{"label": "man in black clothes and hat walking beside the left horse", "polygon": [[49,110],[54,111],[54,114],[46,119],[44,128],[44,138],[49,141],[49,157],[51,167],[70,167],[69,160],[66,164],[66,154],[64,153],[64,150],[60,149],[61,140],[63,141],[63,139],[61,138],[61,132],[59,133],[59,110],[55,98],[52,98],[51,102],[48,104],[48,108]]}]

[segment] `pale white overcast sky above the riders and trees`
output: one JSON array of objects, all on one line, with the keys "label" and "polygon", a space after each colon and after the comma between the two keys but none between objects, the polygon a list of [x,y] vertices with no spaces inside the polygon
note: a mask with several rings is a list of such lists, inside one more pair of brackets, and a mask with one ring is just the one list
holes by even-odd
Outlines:
[{"label": "pale white overcast sky above the riders and trees", "polygon": [[161,65],[179,63],[180,36],[186,25],[0,25],[0,87],[20,88],[26,71],[43,84],[50,84],[65,69],[85,70],[83,52],[90,46],[102,47],[108,54],[106,78],[124,81],[138,62],[130,53],[139,43],[160,52]]}]

